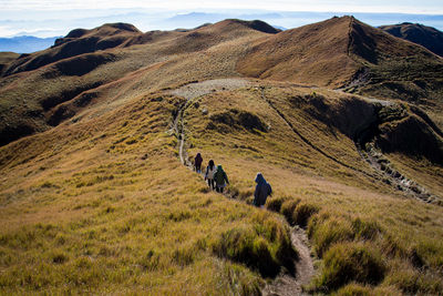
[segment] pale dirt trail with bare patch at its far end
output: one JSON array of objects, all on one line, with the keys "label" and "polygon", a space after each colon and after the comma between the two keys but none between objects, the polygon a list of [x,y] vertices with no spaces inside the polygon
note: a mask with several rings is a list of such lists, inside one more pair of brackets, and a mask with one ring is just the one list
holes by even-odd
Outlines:
[{"label": "pale dirt trail with bare patch at its far end", "polygon": [[[182,95],[187,100],[185,104],[179,106],[173,121],[173,129],[175,130],[178,139],[178,156],[181,163],[193,170],[185,149],[186,133],[184,125],[184,112],[192,100],[210,92],[239,89],[248,84],[249,82],[243,79],[219,79],[189,83],[179,89],[171,91],[171,93],[175,95]],[[224,195],[230,198],[234,197],[227,192]],[[302,292],[302,285],[309,284],[315,275],[313,261],[305,231],[298,226],[292,227],[290,232],[290,238],[292,247],[297,249],[299,254],[298,259],[295,261],[296,275],[293,276],[288,272],[281,272],[271,283],[265,286],[265,288],[261,290],[262,295],[305,295]]]}]

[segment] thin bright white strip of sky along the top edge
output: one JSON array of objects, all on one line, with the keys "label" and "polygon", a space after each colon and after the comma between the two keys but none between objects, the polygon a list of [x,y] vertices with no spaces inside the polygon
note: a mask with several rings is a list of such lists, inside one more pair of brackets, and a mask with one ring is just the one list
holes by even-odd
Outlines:
[{"label": "thin bright white strip of sky along the top edge", "polygon": [[0,11],[103,8],[157,8],[168,10],[262,9],[278,11],[350,11],[443,14],[442,0],[0,0]]}]

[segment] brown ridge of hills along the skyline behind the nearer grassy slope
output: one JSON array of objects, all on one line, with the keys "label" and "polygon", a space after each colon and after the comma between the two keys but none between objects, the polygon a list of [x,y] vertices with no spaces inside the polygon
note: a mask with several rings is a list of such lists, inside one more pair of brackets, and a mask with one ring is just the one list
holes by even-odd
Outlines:
[{"label": "brown ridge of hills along the skyline behind the nearer grassy slope", "polygon": [[[331,31],[334,34],[331,34]],[[394,80],[395,75],[398,75],[396,72],[392,73],[393,67],[391,65],[387,68],[388,70],[383,70],[385,69],[384,61],[394,61],[400,59],[395,57],[401,55],[416,55],[421,57],[419,59],[424,59],[433,64],[431,67],[426,65],[426,68],[427,71],[436,69],[436,72],[430,72],[431,76],[436,75],[436,80],[434,78],[427,79],[425,84],[421,84],[424,86],[420,90],[412,89],[410,91],[405,89],[405,92],[400,93],[400,95],[410,95],[409,92],[413,92],[413,94],[430,96],[427,92],[439,93],[437,85],[440,85],[439,81],[442,80],[437,74],[439,65],[442,62],[435,60],[432,54],[420,47],[412,45],[412,43],[403,43],[398,39],[393,39],[382,31],[354,20],[352,17],[332,18],[323,22],[286,31],[278,31],[260,21],[235,19],[224,20],[193,30],[151,31],[146,33],[140,32],[131,24],[111,23],[92,30],[72,30],[65,38],[59,39],[52,48],[33,54],[22,54],[16,61],[8,60],[9,64],[3,64],[3,76],[12,81],[20,81],[20,75],[17,76],[17,74],[31,73],[31,76],[34,78],[33,80],[60,80],[61,78],[66,78],[73,84],[72,86],[69,86],[69,84],[63,86],[63,83],[61,83],[61,89],[54,89],[52,94],[47,92],[34,94],[34,96],[39,98],[38,102],[31,103],[31,110],[19,116],[21,118],[20,120],[14,120],[21,121],[22,123],[18,124],[18,126],[22,127],[13,132],[13,130],[10,130],[11,126],[8,129],[3,126],[1,129],[3,131],[1,142],[4,144],[10,141],[4,140],[8,139],[8,134],[17,134],[20,137],[22,134],[48,129],[73,116],[75,114],[73,109],[70,110],[66,106],[60,106],[59,109],[58,104],[71,101],[85,91],[110,83],[115,78],[122,78],[117,73],[128,65],[132,68],[131,63],[116,71],[114,78],[106,78],[110,74],[97,75],[94,79],[87,79],[86,76],[94,76],[96,69],[105,71],[109,65],[123,63],[127,59],[127,55],[124,54],[126,49],[133,47],[157,48],[150,54],[153,55],[154,60],[164,61],[169,57],[174,57],[174,54],[210,52],[212,48],[223,48],[225,47],[223,44],[237,41],[244,44],[241,47],[247,52],[245,55],[235,53],[231,62],[236,63],[236,70],[246,76],[344,88],[351,92],[377,95],[377,92],[380,93],[380,88],[392,88],[390,84],[383,83]],[[231,51],[231,49],[226,50]],[[414,59],[418,60],[418,58],[412,58],[411,64],[419,67],[422,62],[418,62]],[[137,63],[143,64],[144,62],[143,60],[137,61],[131,71],[137,69],[137,65],[135,65]],[[183,62],[181,61],[179,63]],[[147,61],[145,65],[148,64],[150,62]],[[379,69],[388,72],[381,72]],[[123,70],[122,73],[126,73],[125,71],[127,70]],[[415,75],[419,75],[419,73]],[[80,81],[78,81],[79,79]],[[404,78],[400,78],[400,80],[404,80]],[[405,82],[395,83],[408,83],[410,85],[411,82],[408,82],[406,79]],[[11,85],[13,84],[2,88],[3,95],[8,93],[10,95],[19,95],[21,86],[11,88]],[[377,90],[377,92],[372,90]],[[409,100],[408,96],[405,98]],[[437,99],[439,96],[435,98]],[[40,104],[40,106],[35,105],[35,103]],[[80,104],[81,109],[84,108],[82,105],[84,103]],[[56,110],[51,110],[53,108]],[[43,110],[38,111],[41,109]],[[79,106],[74,109],[78,110]],[[45,113],[44,118],[41,115],[27,115],[41,112]],[[44,127],[45,125],[47,127]],[[13,139],[17,137],[13,136]]]}]

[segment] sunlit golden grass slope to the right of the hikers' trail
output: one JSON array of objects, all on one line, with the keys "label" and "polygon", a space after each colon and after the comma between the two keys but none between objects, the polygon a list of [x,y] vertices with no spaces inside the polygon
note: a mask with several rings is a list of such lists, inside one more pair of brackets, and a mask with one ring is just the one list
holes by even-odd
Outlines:
[{"label": "sunlit golden grass slope to the right of the hikers' trail", "polygon": [[[266,89],[267,96],[282,110],[290,102],[289,93],[309,94],[309,90]],[[199,108],[190,106],[187,114],[194,146],[192,154],[198,151],[205,160],[214,159],[216,163],[224,164],[235,184],[230,188],[234,194],[250,202],[255,174],[262,172],[275,188],[269,208],[281,211],[289,220],[302,223],[312,214],[303,216],[303,208],[310,206],[319,211],[308,225],[313,248],[324,259],[323,273],[316,279],[315,289],[331,292],[348,280],[363,283],[363,286],[375,285],[375,288],[350,285],[343,287],[343,293],[361,288],[367,293],[381,294],[435,294],[442,288],[442,207],[402,198],[380,181],[373,183],[372,178],[340,167],[307,147],[267,106],[258,90],[206,95],[198,99],[198,103]],[[223,124],[218,124],[216,130],[206,129],[210,114],[231,106],[257,114],[271,129],[257,134]],[[207,116],[202,115],[203,108],[208,110]],[[353,144],[344,140],[344,135],[338,131],[333,135],[328,126],[315,119],[308,121],[307,114],[301,111],[286,108],[284,112],[310,141],[329,143],[323,146],[328,153],[339,155],[348,164],[365,167],[370,173],[367,164],[356,157]],[[441,182],[441,176],[433,180],[434,185]],[[281,202],[284,204],[279,208]],[[293,207],[297,203],[303,206]],[[341,248],[344,253],[352,253],[353,249],[368,252],[368,256],[381,267],[369,259],[373,265],[363,264],[361,269],[357,267],[352,271],[353,267],[346,267],[346,264],[352,266],[354,258],[347,258],[340,253]],[[354,264],[360,266],[360,259]],[[427,268],[425,272],[421,272],[423,265]],[[380,274],[381,278],[368,276],[371,272]],[[359,274],[365,275],[359,278]]]}]

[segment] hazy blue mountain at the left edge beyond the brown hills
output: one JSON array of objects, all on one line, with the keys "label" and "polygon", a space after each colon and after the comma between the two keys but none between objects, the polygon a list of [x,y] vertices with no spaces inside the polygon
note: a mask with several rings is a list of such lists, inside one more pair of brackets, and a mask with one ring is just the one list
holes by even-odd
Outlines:
[{"label": "hazy blue mountain at the left edge beyond the brown hills", "polygon": [[54,44],[59,37],[38,38],[33,35],[20,35],[13,38],[0,38],[0,51],[30,53],[48,49]]}]

